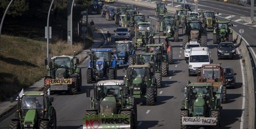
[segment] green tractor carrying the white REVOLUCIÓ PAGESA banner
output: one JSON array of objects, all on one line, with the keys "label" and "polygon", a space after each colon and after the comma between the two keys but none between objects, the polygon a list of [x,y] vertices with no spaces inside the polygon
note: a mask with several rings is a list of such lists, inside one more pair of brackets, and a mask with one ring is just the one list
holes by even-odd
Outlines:
[{"label": "green tractor carrying the white REVOLUCI\u00d3 PAGESA banner", "polygon": [[181,107],[181,129],[189,126],[219,128],[221,103],[211,83],[188,82],[182,92],[185,92],[185,98]]}]

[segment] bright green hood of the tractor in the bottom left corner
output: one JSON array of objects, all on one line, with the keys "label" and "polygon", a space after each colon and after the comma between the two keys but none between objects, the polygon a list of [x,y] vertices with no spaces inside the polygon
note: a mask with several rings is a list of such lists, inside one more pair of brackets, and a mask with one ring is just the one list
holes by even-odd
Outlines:
[{"label": "bright green hood of the tractor in the bottom left corner", "polygon": [[29,109],[24,118],[24,125],[34,125],[37,121],[37,111],[35,109]]}]

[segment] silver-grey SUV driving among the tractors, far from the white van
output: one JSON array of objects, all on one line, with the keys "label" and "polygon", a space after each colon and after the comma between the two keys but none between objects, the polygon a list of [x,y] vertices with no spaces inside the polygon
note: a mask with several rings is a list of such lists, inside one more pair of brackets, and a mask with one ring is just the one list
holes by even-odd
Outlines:
[{"label": "silver-grey SUV driving among the tractors, far from the white van", "polygon": [[117,29],[114,32],[115,41],[130,39],[130,31],[126,27],[117,27]]}]

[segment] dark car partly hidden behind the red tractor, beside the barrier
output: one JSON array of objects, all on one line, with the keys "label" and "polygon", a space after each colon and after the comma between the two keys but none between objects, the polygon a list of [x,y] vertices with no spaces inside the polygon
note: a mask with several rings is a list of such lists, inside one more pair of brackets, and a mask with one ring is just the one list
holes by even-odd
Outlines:
[{"label": "dark car partly hidden behind the red tractor, beside the barrier", "polygon": [[233,69],[230,67],[224,67],[225,69],[225,78],[226,78],[226,87],[230,87],[232,89],[236,86],[236,75]]}]

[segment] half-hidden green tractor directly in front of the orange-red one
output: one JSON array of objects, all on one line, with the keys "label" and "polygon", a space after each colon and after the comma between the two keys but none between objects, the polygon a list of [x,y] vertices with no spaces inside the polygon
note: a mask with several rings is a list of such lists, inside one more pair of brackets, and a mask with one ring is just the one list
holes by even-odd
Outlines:
[{"label": "half-hidden green tractor directly in front of the orange-red one", "polygon": [[159,59],[159,62],[161,62],[161,73],[163,77],[166,77],[169,72],[169,64],[168,60],[170,60],[171,57],[169,57],[165,52],[162,44],[147,44],[145,47],[146,53],[156,53],[157,58]]}]

